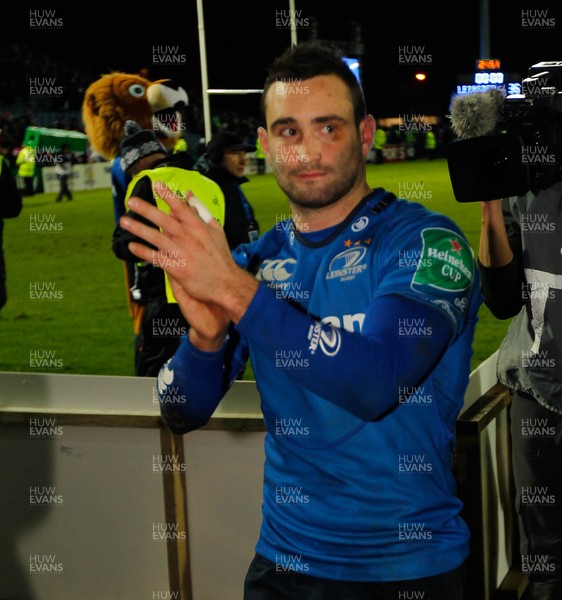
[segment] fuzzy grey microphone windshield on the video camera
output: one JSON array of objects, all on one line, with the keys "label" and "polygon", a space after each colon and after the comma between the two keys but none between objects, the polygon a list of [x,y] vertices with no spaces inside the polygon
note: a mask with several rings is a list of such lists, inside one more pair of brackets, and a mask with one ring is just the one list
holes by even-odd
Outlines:
[{"label": "fuzzy grey microphone windshield on the video camera", "polygon": [[502,120],[504,100],[505,92],[498,88],[455,96],[449,114],[453,131],[461,139],[489,134]]}]

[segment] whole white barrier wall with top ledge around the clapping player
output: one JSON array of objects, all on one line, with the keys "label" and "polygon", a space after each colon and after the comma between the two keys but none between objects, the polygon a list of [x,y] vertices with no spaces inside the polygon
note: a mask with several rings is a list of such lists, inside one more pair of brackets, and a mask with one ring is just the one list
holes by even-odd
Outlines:
[{"label": "whole white barrier wall with top ledge around the clapping player", "polygon": [[[255,383],[237,381],[206,429],[175,436],[179,464],[163,449],[169,433],[154,383],[0,373],[2,600],[240,600],[261,522],[264,432]],[[463,413],[495,383],[491,357],[472,374]],[[479,442],[489,449],[480,470],[493,507],[485,542],[491,590],[509,570],[505,457],[496,436],[491,423]],[[178,521],[187,513],[190,593],[179,593],[170,575],[169,469],[185,475],[185,495],[175,498],[182,506],[173,508]]]}]

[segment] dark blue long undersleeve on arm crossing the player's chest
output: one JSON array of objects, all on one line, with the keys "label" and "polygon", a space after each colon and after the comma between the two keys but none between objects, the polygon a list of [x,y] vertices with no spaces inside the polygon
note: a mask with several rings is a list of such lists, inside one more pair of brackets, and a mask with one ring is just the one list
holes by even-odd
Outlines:
[{"label": "dark blue long undersleeve on arm crossing the player's chest", "polygon": [[[397,326],[401,320],[423,323],[424,335],[402,335]],[[236,328],[269,363],[262,368],[276,369],[279,354],[298,353],[308,368],[292,372],[294,382],[364,421],[376,420],[395,406],[401,387],[419,385],[452,335],[440,311],[409,298],[376,298],[363,332],[355,333],[323,323],[277,298],[264,284]]]}]

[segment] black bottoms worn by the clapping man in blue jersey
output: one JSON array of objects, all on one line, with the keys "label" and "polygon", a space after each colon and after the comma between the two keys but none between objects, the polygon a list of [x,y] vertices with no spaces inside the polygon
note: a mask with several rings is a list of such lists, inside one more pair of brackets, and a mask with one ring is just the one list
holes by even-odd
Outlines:
[{"label": "black bottoms worn by the clapping man in blue jersey", "polygon": [[[299,562],[300,566],[303,565]],[[296,565],[295,565],[296,566]],[[288,572],[256,555],[244,582],[244,600],[462,600],[463,568],[408,581],[336,581]]]}]

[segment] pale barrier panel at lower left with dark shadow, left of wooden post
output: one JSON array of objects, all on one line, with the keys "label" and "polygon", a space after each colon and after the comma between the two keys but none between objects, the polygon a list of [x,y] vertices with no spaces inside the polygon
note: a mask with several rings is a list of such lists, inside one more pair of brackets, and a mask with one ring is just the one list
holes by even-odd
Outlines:
[{"label": "pale barrier panel at lower left with dark shadow, left of wooden post", "polygon": [[[45,421],[43,421],[45,422]],[[56,421],[55,421],[56,422]],[[158,431],[2,427],[0,598],[153,598],[169,590]],[[145,465],[143,467],[143,465]]]}]

